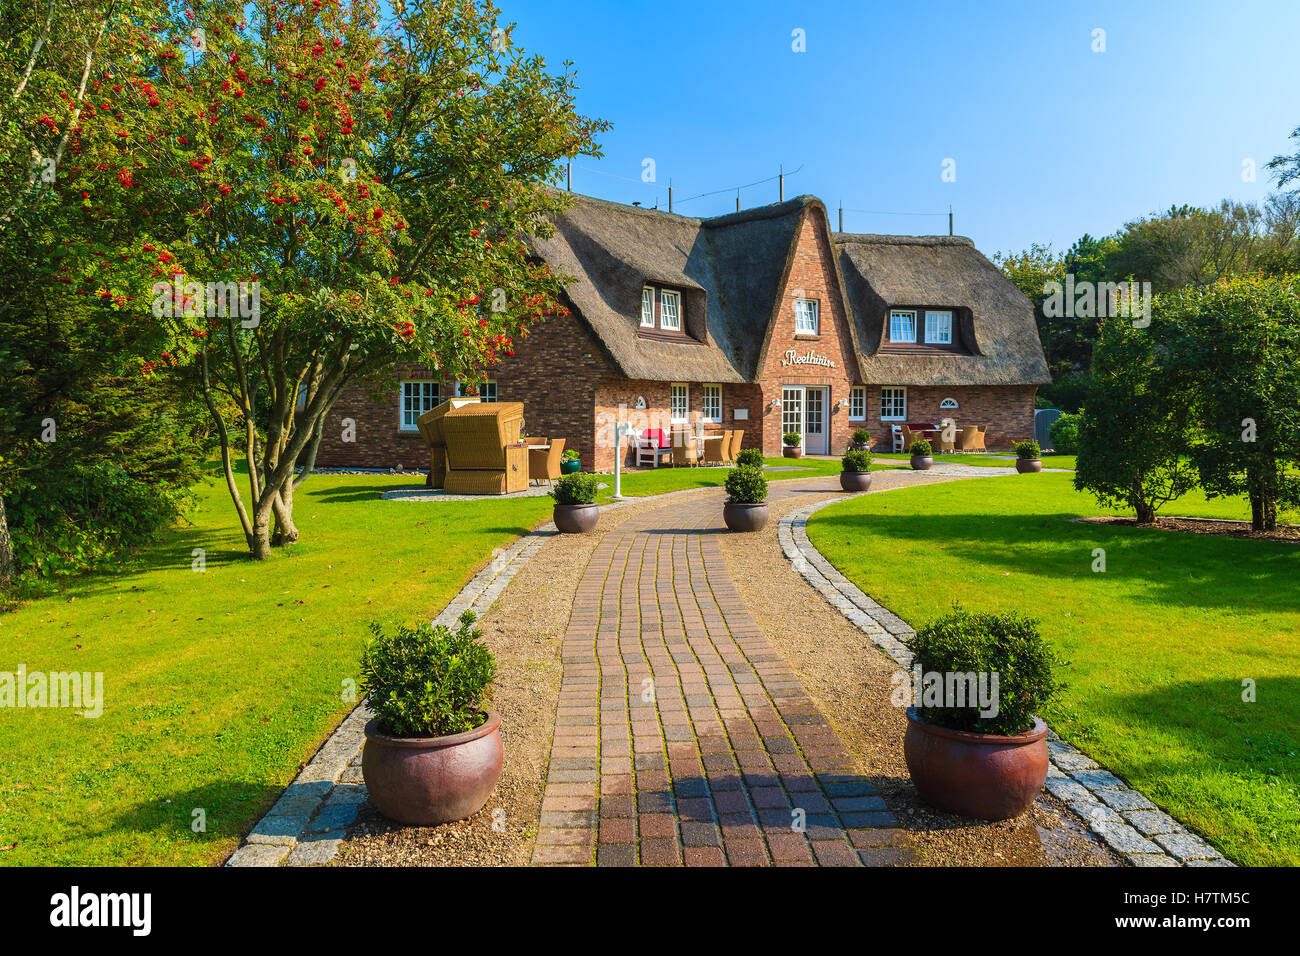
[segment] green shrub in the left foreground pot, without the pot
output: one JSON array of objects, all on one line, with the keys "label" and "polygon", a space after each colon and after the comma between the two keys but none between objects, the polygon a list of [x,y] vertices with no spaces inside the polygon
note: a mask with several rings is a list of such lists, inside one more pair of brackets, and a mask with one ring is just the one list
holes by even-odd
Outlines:
[{"label": "green shrub in the left foreground pot, without the pot", "polygon": [[386,635],[370,624],[361,688],[384,734],[445,737],[482,724],[497,662],[473,624],[473,611],[460,615],[455,631],[420,623]]}]

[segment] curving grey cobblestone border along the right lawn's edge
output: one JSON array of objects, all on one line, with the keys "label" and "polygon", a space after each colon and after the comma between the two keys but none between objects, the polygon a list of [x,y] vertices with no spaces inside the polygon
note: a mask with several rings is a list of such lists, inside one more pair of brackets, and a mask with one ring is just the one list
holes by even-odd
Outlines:
[{"label": "curving grey cobblestone border along the right lawn's edge", "polygon": [[[867,492],[867,494],[880,494]],[[781,518],[777,537],[794,570],[832,607],[855,624],[898,666],[911,666],[902,639],[915,633],[906,620],[864,594],[840,574],[807,536],[807,520],[816,511],[857,496],[796,509]],[[1134,866],[1234,866],[1214,847],[1184,827],[1150,800],[1086,753],[1048,730],[1046,790],[1097,836]]]}]

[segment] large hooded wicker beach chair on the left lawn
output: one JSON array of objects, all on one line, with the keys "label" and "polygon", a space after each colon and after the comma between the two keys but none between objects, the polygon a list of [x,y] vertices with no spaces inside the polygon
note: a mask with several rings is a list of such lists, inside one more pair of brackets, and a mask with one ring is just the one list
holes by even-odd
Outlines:
[{"label": "large hooded wicker beach chair on the left lawn", "polygon": [[521,402],[474,402],[442,416],[451,494],[510,494],[528,488],[528,447],[520,442]]}]

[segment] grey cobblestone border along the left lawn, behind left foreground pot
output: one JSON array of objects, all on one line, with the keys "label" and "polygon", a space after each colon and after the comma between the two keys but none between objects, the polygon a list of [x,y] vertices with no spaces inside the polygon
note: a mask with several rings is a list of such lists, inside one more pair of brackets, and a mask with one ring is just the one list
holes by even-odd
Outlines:
[{"label": "grey cobblestone border along the left lawn, behind left foreground pot", "polygon": [[[498,549],[433,623],[450,627],[465,610],[481,618],[554,533],[555,525],[547,522]],[[370,717],[364,701],[347,715],[231,853],[226,866],[321,866],[338,856],[347,827],[367,800],[361,745]]]}]

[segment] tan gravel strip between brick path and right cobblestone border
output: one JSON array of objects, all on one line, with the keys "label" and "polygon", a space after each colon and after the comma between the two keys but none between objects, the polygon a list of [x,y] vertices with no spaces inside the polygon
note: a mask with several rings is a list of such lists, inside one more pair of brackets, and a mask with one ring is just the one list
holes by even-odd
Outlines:
[{"label": "tan gravel strip between brick path and right cobblestone border", "polygon": [[[874,488],[931,484],[942,475],[874,476]],[[826,497],[835,497],[832,492]],[[1043,792],[1022,817],[972,821],[920,803],[902,756],[906,717],[889,702],[897,665],[871,639],[812,591],[781,554],[780,518],[814,502],[811,494],[774,494],[771,520],[754,535],[727,535],[723,553],[732,579],[763,633],[790,663],[805,689],[866,775],[898,814],[923,865],[1115,866],[1122,865],[1054,797]]]}]

